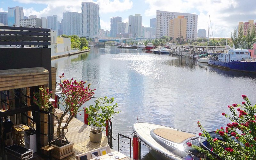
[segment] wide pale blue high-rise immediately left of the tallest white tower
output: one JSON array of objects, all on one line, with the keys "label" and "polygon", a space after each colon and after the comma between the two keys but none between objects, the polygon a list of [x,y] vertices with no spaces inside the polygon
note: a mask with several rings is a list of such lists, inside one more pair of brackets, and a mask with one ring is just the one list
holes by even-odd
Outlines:
[{"label": "wide pale blue high-rise immediately left of the tallest white tower", "polygon": [[62,19],[62,32],[64,35],[81,35],[82,14],[78,12],[64,12]]}]

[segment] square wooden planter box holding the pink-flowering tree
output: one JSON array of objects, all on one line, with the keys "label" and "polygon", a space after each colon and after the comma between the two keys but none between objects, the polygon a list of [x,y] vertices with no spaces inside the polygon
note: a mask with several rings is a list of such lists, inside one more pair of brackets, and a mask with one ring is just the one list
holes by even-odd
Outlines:
[{"label": "square wooden planter box holding the pink-flowering tree", "polygon": [[73,149],[74,148],[73,142],[69,142],[68,144],[61,147],[55,146],[53,144],[52,146],[54,147],[54,149],[51,150],[52,157],[56,159],[62,159],[67,156],[75,154],[75,151]]}]

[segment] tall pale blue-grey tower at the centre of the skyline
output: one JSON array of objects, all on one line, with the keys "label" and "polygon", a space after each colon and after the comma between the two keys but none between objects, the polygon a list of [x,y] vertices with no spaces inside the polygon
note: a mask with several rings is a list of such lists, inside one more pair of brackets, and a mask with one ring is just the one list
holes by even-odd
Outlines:
[{"label": "tall pale blue-grey tower at the centre of the skyline", "polygon": [[129,28],[131,30],[132,37],[140,37],[141,36],[141,20],[142,17],[140,14],[135,14],[134,16],[129,16]]}]

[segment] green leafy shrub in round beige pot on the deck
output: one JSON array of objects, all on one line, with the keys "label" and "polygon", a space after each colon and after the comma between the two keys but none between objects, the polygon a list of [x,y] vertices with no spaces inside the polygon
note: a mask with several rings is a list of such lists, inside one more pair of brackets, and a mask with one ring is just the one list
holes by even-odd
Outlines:
[{"label": "green leafy shrub in round beige pot on the deck", "polygon": [[90,141],[100,142],[102,137],[102,130],[107,126],[106,120],[110,120],[112,116],[118,114],[119,111],[115,111],[117,108],[117,103],[110,105],[114,102],[114,98],[108,99],[108,97],[103,97],[94,100],[95,105],[90,105],[86,109],[88,114],[88,124],[91,126]]}]

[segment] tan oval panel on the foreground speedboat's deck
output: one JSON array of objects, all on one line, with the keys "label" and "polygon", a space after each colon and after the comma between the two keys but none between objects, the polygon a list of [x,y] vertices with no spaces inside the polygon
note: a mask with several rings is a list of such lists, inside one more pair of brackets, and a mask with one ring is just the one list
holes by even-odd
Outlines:
[{"label": "tan oval panel on the foreground speedboat's deck", "polygon": [[188,138],[195,137],[195,135],[191,133],[165,128],[154,129],[154,133],[164,139],[173,141],[175,143],[182,143],[184,140]]}]

